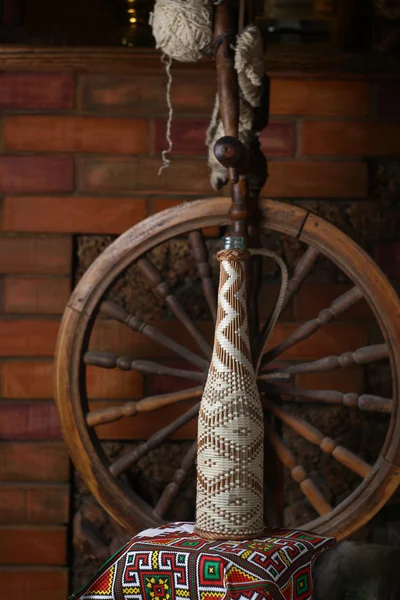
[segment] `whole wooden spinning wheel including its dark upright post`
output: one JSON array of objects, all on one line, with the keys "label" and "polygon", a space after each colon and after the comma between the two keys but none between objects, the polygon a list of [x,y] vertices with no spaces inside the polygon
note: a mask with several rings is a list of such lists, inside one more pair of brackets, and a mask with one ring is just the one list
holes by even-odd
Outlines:
[{"label": "whole wooden spinning wheel including its dark upright post", "polygon": [[[258,203],[266,169],[257,144],[248,152],[238,141],[238,89],[231,56],[229,36],[232,27],[227,4],[226,0],[218,4],[215,31],[221,119],[229,137],[217,142],[215,156],[229,170],[232,204],[230,199],[219,197],[166,210],[128,230],[99,256],[77,285],[64,313],[56,359],[56,402],[72,460],[103,507],[128,530],[171,519],[171,507],[186,485],[187,476],[194,470],[196,444],[187,447],[171,481],[156,497],[149,498],[143,488],[139,492],[136,475],[151,452],[162,448],[182,428],[193,424],[199,413],[216,317],[216,291],[211,268],[215,247],[211,254],[203,229],[218,227],[222,233],[230,225],[229,235],[246,237],[248,234],[250,247],[267,246],[271,235],[301,245],[300,258],[289,265],[290,279],[283,298],[283,310],[296,299],[302,283],[320,258],[339,270],[341,280],[345,278],[349,282],[349,289],[311,320],[283,326],[280,335],[272,336],[265,344],[271,317],[260,319],[258,316],[262,302],[259,298],[265,298],[260,293],[262,263],[258,257],[251,259],[248,290],[253,358],[269,440],[265,481],[270,494],[275,487],[280,487],[278,495],[281,493],[282,482],[271,471],[271,464],[279,460],[314,511],[306,522],[291,525],[342,539],[376,514],[400,482],[400,302],[376,264],[336,227],[300,207],[272,200]],[[252,210],[249,210],[249,204],[252,204]],[[253,218],[249,218],[251,215]],[[190,311],[168,284],[168,277],[154,264],[154,251],[175,240],[187,244],[189,262],[197,267],[195,289],[204,296],[204,305],[208,307],[211,325],[208,335],[194,322]],[[121,279],[132,269],[167,306],[171,318],[168,332],[141,317],[140,311],[136,310],[134,294],[131,302],[122,298]],[[378,341],[361,344],[359,348],[342,347],[337,352],[332,347],[328,356],[295,360],[298,356],[295,349],[299,345],[307,339],[312,342],[313,336],[315,339],[321,332],[327,332],[330,324],[360,302],[366,302],[372,311],[375,329],[381,336]],[[270,310],[270,315],[273,313],[274,310]],[[116,348],[111,343],[116,327],[119,328],[118,335],[124,331],[127,340],[123,350],[118,349],[118,344]],[[99,328],[103,329],[102,337],[98,335]],[[182,339],[186,341],[183,343]],[[142,352],[144,347],[147,355]],[[297,379],[305,373],[337,371],[339,380],[343,370],[352,365],[368,366],[381,361],[387,361],[390,368],[391,395],[388,393],[387,397],[374,394],[369,387],[365,393],[304,389],[299,383],[301,380]],[[96,403],[96,398],[88,398],[89,369],[92,374],[94,369],[99,375],[104,369],[139,373],[145,378],[144,393],[141,398],[125,402]],[[146,390],[154,389],[151,382],[161,376],[187,382],[187,386],[180,385],[170,393],[146,393]],[[308,419],[304,413],[295,410],[297,405],[304,406],[305,402],[312,403],[314,410],[322,411],[325,406],[336,405],[344,406],[353,416],[358,412],[373,414],[379,430],[385,429],[382,443],[376,444],[375,455],[365,444],[364,448],[355,443],[351,448],[348,444],[345,446],[340,435],[336,439],[322,427],[320,429],[314,418]],[[155,418],[158,412],[162,413],[161,424]],[[107,438],[104,428],[121,420],[127,422],[125,431],[135,430],[136,439],[140,441],[125,445],[116,455],[110,454],[103,444],[104,437]],[[140,425],[135,429],[136,420]],[[155,422],[159,426],[155,426]],[[360,420],[357,424],[362,428]],[[146,431],[150,429],[151,434],[147,435]],[[317,448],[327,460],[352,474],[353,483],[347,494],[326,497],[320,482],[315,481],[304,467],[308,448],[303,455],[295,455],[287,442],[288,432],[305,440],[310,448]],[[115,439],[115,435],[109,435],[108,439]],[[270,499],[267,501],[267,523],[271,523],[271,506],[276,508],[278,504]],[[190,516],[193,518],[194,515]],[[173,517],[188,519],[187,514],[173,514]],[[278,523],[282,524],[279,517],[281,515],[278,515]]]}]

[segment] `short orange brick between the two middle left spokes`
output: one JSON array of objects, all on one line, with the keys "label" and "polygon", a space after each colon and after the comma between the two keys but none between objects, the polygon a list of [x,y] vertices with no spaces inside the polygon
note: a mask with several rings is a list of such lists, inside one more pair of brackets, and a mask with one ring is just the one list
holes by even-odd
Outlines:
[{"label": "short orange brick between the two middle left spokes", "polygon": [[89,398],[134,399],[143,396],[143,375],[136,371],[86,367]]}]

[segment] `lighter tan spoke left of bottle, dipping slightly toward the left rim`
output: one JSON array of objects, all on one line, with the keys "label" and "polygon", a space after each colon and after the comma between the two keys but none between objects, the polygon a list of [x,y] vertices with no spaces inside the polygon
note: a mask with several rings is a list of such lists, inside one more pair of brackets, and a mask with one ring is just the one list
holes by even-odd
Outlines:
[{"label": "lighter tan spoke left of bottle, dipping slightly toward the left rim", "polygon": [[132,400],[119,406],[110,406],[108,408],[102,408],[101,410],[94,410],[86,415],[86,424],[89,427],[96,427],[97,425],[112,423],[113,421],[119,421],[119,419],[123,419],[124,417],[134,417],[140,412],[149,412],[163,406],[168,406],[169,404],[175,404],[176,402],[199,398],[202,393],[203,387],[199,386],[180,392],[172,392],[171,394],[147,396],[137,402]]}]

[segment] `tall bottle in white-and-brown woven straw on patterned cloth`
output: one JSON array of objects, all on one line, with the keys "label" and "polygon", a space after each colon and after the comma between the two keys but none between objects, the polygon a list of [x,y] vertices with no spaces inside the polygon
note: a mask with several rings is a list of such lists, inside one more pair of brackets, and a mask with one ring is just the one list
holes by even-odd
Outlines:
[{"label": "tall bottle in white-and-brown woven straw on patterned cloth", "polygon": [[[240,240],[225,238],[224,247]],[[197,451],[196,531],[210,539],[248,539],[263,531],[264,428],[247,322],[249,256],[235,247],[217,254],[217,323]]]}]

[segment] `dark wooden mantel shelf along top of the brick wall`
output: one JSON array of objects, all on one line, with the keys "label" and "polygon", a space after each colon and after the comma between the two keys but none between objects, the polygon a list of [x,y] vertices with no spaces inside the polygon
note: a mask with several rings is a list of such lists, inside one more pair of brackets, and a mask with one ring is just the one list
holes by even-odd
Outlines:
[{"label": "dark wooden mantel shelf along top of the brick wall", "polygon": [[[271,46],[266,70],[274,76],[346,76],[398,78],[399,57],[380,53],[344,54],[329,46]],[[212,60],[196,64],[174,62],[179,71],[213,70]],[[159,52],[153,49],[1,46],[2,71],[78,71],[134,74],[162,72]]]}]

